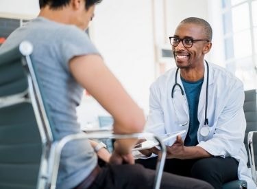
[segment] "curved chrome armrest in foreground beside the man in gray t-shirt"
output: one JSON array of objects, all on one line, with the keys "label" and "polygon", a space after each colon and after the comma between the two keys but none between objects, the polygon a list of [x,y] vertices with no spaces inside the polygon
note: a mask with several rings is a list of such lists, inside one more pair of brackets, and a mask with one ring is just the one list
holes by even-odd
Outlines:
[{"label": "curved chrome armrest in foreground beside the man in gray t-shirt", "polygon": [[73,135],[67,135],[66,137],[63,137],[62,140],[60,140],[56,146],[54,147],[54,160],[53,160],[53,171],[51,175],[51,189],[56,188],[56,180],[57,180],[57,175],[58,175],[58,168],[59,168],[59,163],[60,163],[60,155],[62,152],[62,148],[71,141],[74,140],[84,140],[84,139],[127,139],[127,138],[136,138],[136,139],[143,139],[143,138],[152,138],[158,141],[160,144],[160,151],[161,153],[158,155],[158,162],[156,165],[156,177],[154,181],[154,188],[158,189],[160,188],[160,181],[162,179],[162,172],[164,168],[164,162],[166,159],[166,146],[160,140],[160,138],[153,133],[133,133],[133,134],[114,134],[111,133],[110,131],[106,132],[90,132],[90,133],[78,133],[78,134],[73,134]]}]

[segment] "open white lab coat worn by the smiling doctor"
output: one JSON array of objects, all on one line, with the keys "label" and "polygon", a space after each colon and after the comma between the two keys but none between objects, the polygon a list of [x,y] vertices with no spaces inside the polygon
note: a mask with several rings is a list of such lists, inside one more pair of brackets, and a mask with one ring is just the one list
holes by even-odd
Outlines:
[{"label": "open white lab coat worn by the smiling doctor", "polygon": [[[205,70],[206,68],[206,63]],[[185,129],[188,131],[188,103],[184,101],[179,87],[175,87],[174,102],[177,115],[171,100],[171,89],[175,84],[175,71],[171,69],[160,76],[150,88],[149,115],[146,131],[165,134]],[[198,105],[198,142],[208,153],[220,157],[234,157],[238,160],[238,178],[245,179],[249,189],[255,189],[249,168],[247,152],[243,144],[245,136],[245,115],[243,112],[243,83],[222,67],[209,63],[208,109],[210,133],[207,137],[200,135],[204,126],[206,102],[206,72]],[[178,71],[178,83],[183,87]],[[186,137],[186,133],[182,138]],[[167,142],[171,145],[171,142]]]}]

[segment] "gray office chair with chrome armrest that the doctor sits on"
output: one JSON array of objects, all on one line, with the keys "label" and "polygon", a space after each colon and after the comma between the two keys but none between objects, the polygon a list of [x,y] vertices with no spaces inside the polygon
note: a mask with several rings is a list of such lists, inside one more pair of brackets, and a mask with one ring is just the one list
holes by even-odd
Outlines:
[{"label": "gray office chair with chrome armrest that the doctor sits on", "polygon": [[[257,102],[256,102],[256,89],[245,91],[245,102],[243,109],[245,112],[246,130],[245,130],[245,148],[248,153],[247,166],[252,170],[252,179],[256,181],[256,159],[257,159]],[[245,188],[247,187],[246,181],[236,180],[230,181],[223,185],[223,189]]]}]

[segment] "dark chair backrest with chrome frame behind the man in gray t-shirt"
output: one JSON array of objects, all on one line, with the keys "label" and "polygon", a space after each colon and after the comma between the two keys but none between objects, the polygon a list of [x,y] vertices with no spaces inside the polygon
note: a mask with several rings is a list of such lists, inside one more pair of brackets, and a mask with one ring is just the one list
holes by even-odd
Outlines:
[{"label": "dark chair backrest with chrome frame behind the man in gray t-shirt", "polygon": [[45,188],[52,135],[23,41],[0,54],[0,188]]}]

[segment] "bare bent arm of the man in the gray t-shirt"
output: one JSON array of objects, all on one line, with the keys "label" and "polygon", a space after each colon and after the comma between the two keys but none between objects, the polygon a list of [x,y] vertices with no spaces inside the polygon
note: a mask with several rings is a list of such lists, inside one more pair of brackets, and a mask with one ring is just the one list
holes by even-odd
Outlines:
[{"label": "bare bent arm of the man in the gray t-shirt", "polygon": [[[69,66],[75,80],[112,115],[114,133],[130,134],[143,131],[145,115],[142,109],[123,89],[121,83],[103,63],[101,56],[76,56],[70,60]],[[136,142],[136,139],[117,140],[114,159],[121,158],[127,163],[133,163],[130,154]]]}]

